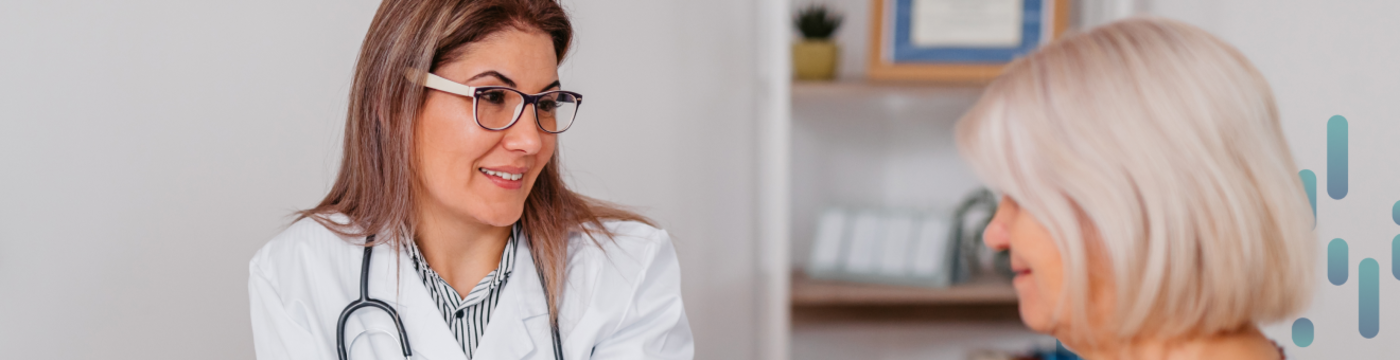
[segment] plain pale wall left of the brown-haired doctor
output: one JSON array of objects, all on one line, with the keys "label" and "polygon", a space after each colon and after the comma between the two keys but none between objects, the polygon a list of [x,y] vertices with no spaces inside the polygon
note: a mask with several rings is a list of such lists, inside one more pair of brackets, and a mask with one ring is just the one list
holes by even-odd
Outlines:
[{"label": "plain pale wall left of the brown-haired doctor", "polygon": [[0,6],[3,357],[251,357],[246,261],[326,191],[374,8]]}]

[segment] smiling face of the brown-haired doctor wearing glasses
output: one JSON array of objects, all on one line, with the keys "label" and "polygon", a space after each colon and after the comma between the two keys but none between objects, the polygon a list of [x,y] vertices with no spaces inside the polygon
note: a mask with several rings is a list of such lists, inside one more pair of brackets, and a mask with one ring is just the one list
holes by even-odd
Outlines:
[{"label": "smiling face of the brown-haired doctor wearing glasses", "polygon": [[[433,73],[472,87],[511,87],[525,94],[559,88],[554,43],[540,31],[507,28],[465,46],[458,59]],[[521,217],[556,134],[536,125],[525,105],[505,130],[487,130],[472,118],[472,98],[427,91],[414,125],[421,216],[448,216],[505,227]]]}]

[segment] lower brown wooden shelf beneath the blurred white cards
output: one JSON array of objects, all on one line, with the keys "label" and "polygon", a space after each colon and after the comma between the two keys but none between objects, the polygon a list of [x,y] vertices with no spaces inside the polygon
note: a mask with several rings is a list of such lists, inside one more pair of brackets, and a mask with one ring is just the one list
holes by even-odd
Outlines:
[{"label": "lower brown wooden shelf beneath the blurred white cards", "polygon": [[1004,279],[979,279],[946,289],[813,280],[792,275],[794,307],[827,305],[994,305],[1016,304]]}]

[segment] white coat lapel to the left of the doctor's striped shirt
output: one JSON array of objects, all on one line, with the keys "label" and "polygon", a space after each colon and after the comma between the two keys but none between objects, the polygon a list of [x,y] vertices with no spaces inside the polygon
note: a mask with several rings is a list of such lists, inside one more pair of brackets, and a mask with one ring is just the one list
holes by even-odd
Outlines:
[{"label": "white coat lapel to the left of the doctor's striped shirt", "polygon": [[[447,328],[442,312],[437,310],[427,287],[419,279],[417,270],[413,269],[413,259],[409,258],[407,252],[381,245],[375,248],[374,255],[377,259],[395,259],[398,256],[398,269],[392,269],[392,263],[384,265],[385,270],[381,272],[384,276],[377,283],[396,283],[399,289],[385,286],[382,291],[371,291],[371,294],[384,301],[400,300],[400,303],[393,304],[393,308],[403,319],[403,331],[409,333],[413,359],[466,360],[466,354],[462,353],[452,331]],[[393,276],[398,276],[399,280],[389,282]]]}]

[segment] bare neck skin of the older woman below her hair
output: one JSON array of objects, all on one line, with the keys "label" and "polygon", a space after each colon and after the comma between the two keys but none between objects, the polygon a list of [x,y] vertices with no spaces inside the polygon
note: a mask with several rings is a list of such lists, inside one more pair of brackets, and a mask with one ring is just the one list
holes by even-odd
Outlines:
[{"label": "bare neck skin of the older woman below her hair", "polygon": [[1077,354],[1088,360],[1186,360],[1186,359],[1240,359],[1275,360],[1282,359],[1273,340],[1254,325],[1243,329],[1179,339],[1144,338],[1131,342],[1103,340],[1098,346],[1065,343]]}]

